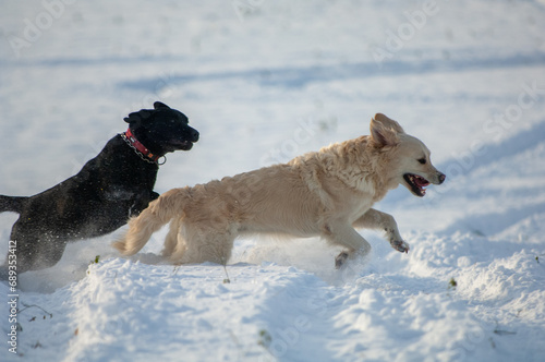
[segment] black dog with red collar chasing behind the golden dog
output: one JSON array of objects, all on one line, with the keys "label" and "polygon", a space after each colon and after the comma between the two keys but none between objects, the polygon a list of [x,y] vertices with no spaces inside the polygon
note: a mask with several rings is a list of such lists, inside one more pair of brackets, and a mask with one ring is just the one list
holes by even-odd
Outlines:
[{"label": "black dog with red collar chasing behind the golden dog", "polygon": [[20,214],[2,279],[14,265],[17,274],[53,266],[69,241],[112,232],[159,196],[154,192],[157,160],[191,149],[198,132],[180,111],[159,101],[154,108],[129,114],[129,130],[70,179],[31,197],[0,195],[0,213]]}]

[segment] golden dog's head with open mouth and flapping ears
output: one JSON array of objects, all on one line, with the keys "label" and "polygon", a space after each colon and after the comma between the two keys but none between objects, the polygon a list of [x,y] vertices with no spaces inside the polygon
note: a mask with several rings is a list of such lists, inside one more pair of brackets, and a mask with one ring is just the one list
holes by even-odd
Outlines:
[{"label": "golden dog's head with open mouth and flapping ears", "polygon": [[446,176],[432,165],[426,145],[385,114],[377,113],[371,120],[371,140],[387,159],[388,179],[414,195],[422,197],[426,194],[424,188],[445,181]]}]

